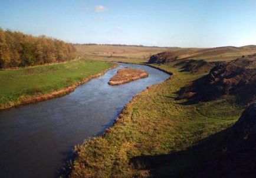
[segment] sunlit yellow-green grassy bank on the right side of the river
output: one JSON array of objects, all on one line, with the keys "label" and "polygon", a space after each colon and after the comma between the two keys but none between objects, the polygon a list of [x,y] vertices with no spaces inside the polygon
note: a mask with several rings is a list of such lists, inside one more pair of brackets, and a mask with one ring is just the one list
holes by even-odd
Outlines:
[{"label": "sunlit yellow-green grassy bank on the right side of the river", "polygon": [[76,146],[71,177],[162,177],[170,168],[175,174],[168,175],[177,176],[186,171],[179,164],[153,171],[139,157],[150,156],[157,162],[157,156],[186,150],[240,116],[242,109],[224,98],[185,105],[177,93],[204,74],[180,72],[169,65],[157,67],[173,72],[172,79],[136,96],[104,136]]}]

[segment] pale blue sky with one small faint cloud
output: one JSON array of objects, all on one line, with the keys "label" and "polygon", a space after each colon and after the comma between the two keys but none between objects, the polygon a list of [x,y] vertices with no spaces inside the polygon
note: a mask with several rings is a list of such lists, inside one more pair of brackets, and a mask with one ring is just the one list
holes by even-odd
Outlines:
[{"label": "pale blue sky with one small faint cloud", "polygon": [[256,45],[256,0],[0,0],[0,27],[72,43]]}]

